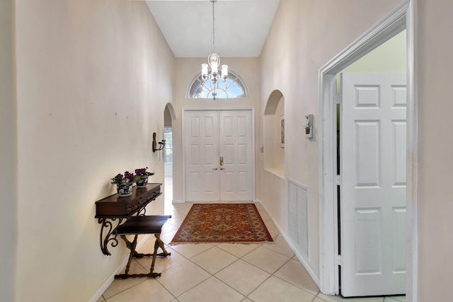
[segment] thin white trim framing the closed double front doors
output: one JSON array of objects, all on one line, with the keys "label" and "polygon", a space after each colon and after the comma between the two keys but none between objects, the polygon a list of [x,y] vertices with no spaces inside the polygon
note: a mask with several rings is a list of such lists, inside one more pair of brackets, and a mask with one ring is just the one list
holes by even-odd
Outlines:
[{"label": "thin white trim framing the closed double front doors", "polygon": [[182,108],[182,123],[181,127],[182,129],[182,151],[183,151],[183,202],[186,201],[185,198],[185,112],[186,111],[202,111],[202,110],[207,110],[207,111],[222,111],[222,110],[248,110],[252,112],[252,199],[255,202],[256,201],[256,194],[255,194],[255,153],[256,153],[256,144],[255,144],[255,108],[250,107],[250,108],[230,108],[230,107],[221,107],[221,108]]}]

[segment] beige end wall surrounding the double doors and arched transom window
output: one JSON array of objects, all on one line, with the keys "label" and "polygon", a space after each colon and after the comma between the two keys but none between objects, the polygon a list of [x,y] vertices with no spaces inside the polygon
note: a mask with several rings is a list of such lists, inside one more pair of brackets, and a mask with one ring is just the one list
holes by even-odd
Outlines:
[{"label": "beige end wall surrounding the double doors and arched transom window", "polygon": [[[259,161],[259,146],[260,139],[258,137],[258,125],[260,122],[260,90],[259,90],[259,60],[258,58],[224,58],[219,52],[222,59],[222,64],[227,64],[229,70],[237,74],[243,83],[245,83],[248,98],[230,98],[230,99],[189,99],[187,92],[190,84],[195,77],[200,75],[201,64],[206,62],[206,58],[179,58],[176,59],[176,76],[175,76],[175,103],[173,108],[176,114],[176,120],[173,121],[173,200],[181,202],[183,197],[183,118],[182,112],[184,109],[190,108],[255,108],[255,124],[256,124],[256,167]],[[257,173],[258,174],[258,173]],[[257,182],[257,180],[256,180]]]}]

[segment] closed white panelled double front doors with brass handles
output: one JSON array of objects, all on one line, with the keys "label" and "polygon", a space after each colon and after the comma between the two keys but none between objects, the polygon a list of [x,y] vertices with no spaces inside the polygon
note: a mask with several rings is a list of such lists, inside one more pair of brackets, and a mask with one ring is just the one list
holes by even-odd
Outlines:
[{"label": "closed white panelled double front doors with brass handles", "polygon": [[251,110],[185,111],[185,200],[251,201]]}]

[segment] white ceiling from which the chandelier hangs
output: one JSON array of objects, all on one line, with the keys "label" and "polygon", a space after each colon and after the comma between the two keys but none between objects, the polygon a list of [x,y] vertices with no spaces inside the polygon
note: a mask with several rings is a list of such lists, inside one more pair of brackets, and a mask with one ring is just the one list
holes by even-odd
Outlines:
[{"label": "white ceiling from which the chandelier hangs", "polygon": [[[207,57],[212,45],[210,0],[147,0],[175,57]],[[280,0],[214,2],[220,57],[259,57]]]}]

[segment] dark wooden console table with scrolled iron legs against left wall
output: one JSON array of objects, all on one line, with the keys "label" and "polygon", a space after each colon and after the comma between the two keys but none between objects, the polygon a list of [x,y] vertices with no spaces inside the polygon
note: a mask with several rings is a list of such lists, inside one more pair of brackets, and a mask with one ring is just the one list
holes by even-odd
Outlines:
[{"label": "dark wooden console table with scrolled iron legs against left wall", "polygon": [[118,245],[117,228],[123,220],[134,214],[144,215],[149,202],[161,195],[161,183],[149,183],[147,187],[132,189],[129,197],[118,197],[117,194],[105,197],[96,202],[96,218],[101,223],[101,250],[104,255],[112,255],[109,245]]}]

